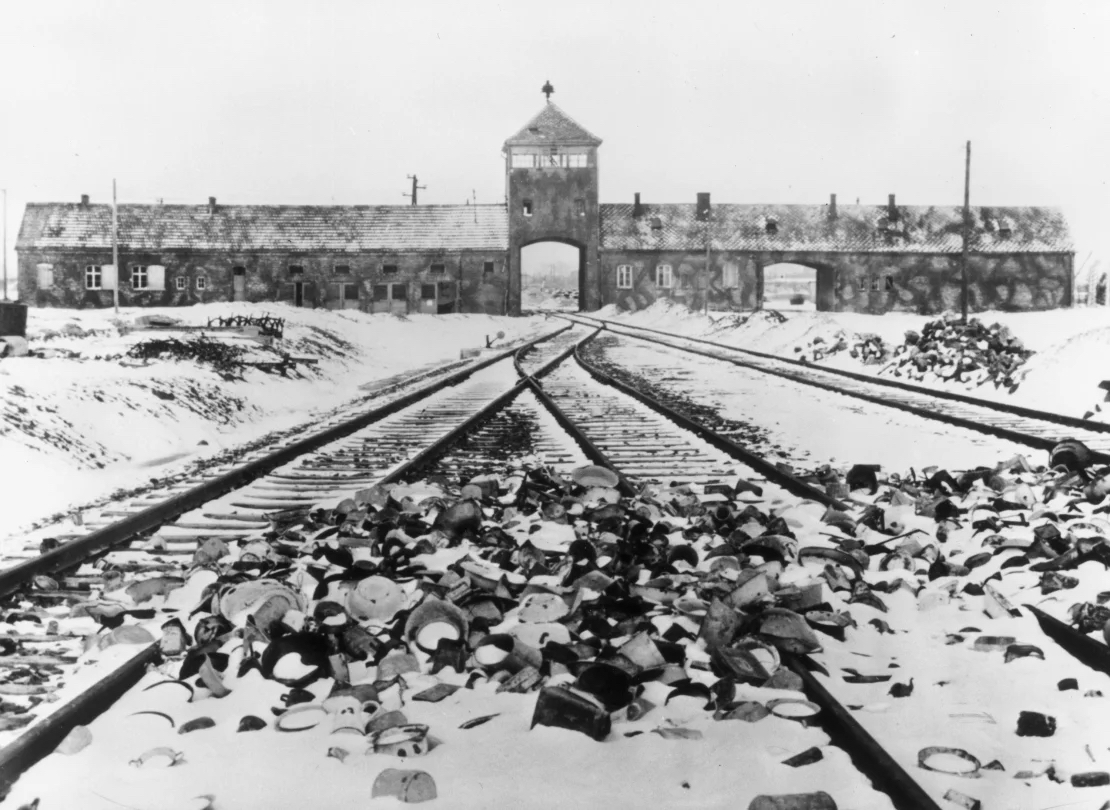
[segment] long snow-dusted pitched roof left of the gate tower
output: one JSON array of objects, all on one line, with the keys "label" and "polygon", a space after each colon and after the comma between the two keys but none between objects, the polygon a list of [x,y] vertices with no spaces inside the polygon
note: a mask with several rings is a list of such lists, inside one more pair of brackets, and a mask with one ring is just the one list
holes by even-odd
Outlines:
[{"label": "long snow-dusted pitched roof left of the gate tower", "polygon": [[[120,205],[131,250],[508,249],[504,205]],[[110,205],[29,203],[19,249],[111,247]]]}]

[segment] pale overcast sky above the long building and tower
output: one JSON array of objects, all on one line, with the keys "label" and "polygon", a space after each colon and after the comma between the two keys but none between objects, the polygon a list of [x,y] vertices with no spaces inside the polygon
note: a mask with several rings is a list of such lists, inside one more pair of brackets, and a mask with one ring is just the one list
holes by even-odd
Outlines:
[{"label": "pale overcast sky above the long building and tower", "polygon": [[[554,100],[601,199],[1062,205],[1110,260],[1110,2],[0,4],[8,244],[28,201],[504,199]],[[14,272],[10,253],[9,272]]]}]

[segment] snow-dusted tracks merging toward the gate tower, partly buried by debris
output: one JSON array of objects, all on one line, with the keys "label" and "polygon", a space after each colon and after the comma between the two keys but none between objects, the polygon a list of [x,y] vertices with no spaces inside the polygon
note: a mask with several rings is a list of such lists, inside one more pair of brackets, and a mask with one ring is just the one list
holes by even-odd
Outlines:
[{"label": "snow-dusted tracks merging toward the gate tower, partly buried by debris", "polygon": [[[452,375],[450,382],[440,381],[353,424],[333,426],[250,459],[245,470],[218,472],[200,487],[152,499],[152,508],[121,516],[122,520],[97,527],[85,538],[0,573],[0,594],[32,594],[41,600],[92,598],[107,581],[104,571],[90,570],[87,560],[105,549],[128,546],[103,557],[109,571],[132,573],[143,565],[150,566],[148,570],[181,571],[205,544],[248,540],[270,528],[275,516],[309,514],[352,489],[428,474],[466,480],[483,467],[519,454],[538,455],[555,469],[569,469],[583,460],[603,465],[617,472],[625,495],[652,480],[692,485],[707,493],[722,480],[739,479],[765,500],[778,504],[776,508],[805,510],[808,504],[824,512],[859,506],[829,497],[728,437],[607,377],[577,353],[584,337],[561,331],[514,353],[515,367],[507,365],[507,355],[491,358],[483,368]],[[847,573],[857,579],[858,574]],[[836,598],[840,608],[849,601]],[[1025,619],[1021,629],[1026,632],[1035,620],[1045,624],[1045,617],[1032,611]],[[1045,626],[1051,621],[1056,620],[1048,617]],[[1077,640],[1076,631],[1067,626],[1052,626],[1052,630],[1058,638]],[[50,656],[59,661],[80,652],[79,640],[67,641],[63,634],[33,636],[41,641],[30,638],[28,644],[49,645]],[[834,640],[824,664],[804,655],[789,655],[785,660],[804,682],[807,697],[820,707],[821,728],[895,807],[939,807],[939,782],[928,784],[927,790],[910,776],[915,761],[889,728],[879,723],[880,733],[874,735],[847,708],[851,689],[845,685],[850,681],[834,677],[833,670],[849,655],[850,645]],[[953,660],[956,666],[973,669],[975,656],[969,652]],[[71,688],[59,710],[0,749],[4,781],[11,782],[53,750],[75,725],[109,708],[158,658],[159,647],[152,644],[90,688]],[[54,670],[64,674],[60,665]]]}]

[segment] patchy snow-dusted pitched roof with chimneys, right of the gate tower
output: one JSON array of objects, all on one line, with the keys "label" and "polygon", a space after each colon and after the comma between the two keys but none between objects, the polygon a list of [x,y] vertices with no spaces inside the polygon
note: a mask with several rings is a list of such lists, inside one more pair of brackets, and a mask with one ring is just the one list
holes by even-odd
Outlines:
[{"label": "patchy snow-dusted pitched roof with chimneys, right of the gate tower", "polygon": [[[705,250],[705,223],[693,203],[645,204],[634,219],[630,204],[601,206],[603,250]],[[959,253],[963,210],[956,205],[715,204],[713,250],[834,251],[862,253]],[[980,253],[1073,251],[1063,214],[1049,207],[972,207],[971,249]],[[654,224],[657,227],[653,227]],[[774,222],[774,229],[768,223]],[[1002,231],[1009,229],[1006,236]],[[774,230],[774,233],[769,233]]]}]

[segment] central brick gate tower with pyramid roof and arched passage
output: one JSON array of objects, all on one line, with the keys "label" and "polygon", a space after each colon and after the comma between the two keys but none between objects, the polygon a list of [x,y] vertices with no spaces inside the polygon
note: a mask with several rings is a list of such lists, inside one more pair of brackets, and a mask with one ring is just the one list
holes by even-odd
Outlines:
[{"label": "central brick gate tower with pyramid roof and arched passage", "polygon": [[597,148],[588,132],[551,100],[505,141],[508,205],[508,314],[521,314],[521,249],[562,242],[578,249],[578,310],[601,307]]}]

